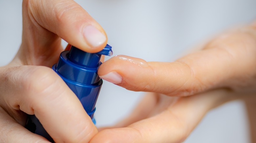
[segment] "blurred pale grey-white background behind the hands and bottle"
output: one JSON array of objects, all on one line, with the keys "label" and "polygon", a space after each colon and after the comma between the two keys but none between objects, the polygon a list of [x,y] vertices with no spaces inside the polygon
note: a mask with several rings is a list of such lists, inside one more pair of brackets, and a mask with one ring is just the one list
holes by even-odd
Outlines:
[{"label": "blurred pale grey-white background behind the hands and bottle", "polygon": [[[174,61],[225,29],[256,20],[255,0],[75,1],[105,29],[114,56],[146,61]],[[0,1],[1,66],[11,61],[21,43],[21,5],[21,0]],[[104,81],[96,104],[97,126],[126,117],[143,94]],[[226,103],[210,111],[185,143],[250,142],[247,120],[243,102]]]}]

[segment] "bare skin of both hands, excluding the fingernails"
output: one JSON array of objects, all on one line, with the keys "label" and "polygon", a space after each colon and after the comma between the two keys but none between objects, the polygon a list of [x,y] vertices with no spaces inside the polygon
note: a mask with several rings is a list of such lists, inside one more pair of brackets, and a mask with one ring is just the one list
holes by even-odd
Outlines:
[{"label": "bare skin of both hands, excluding the fingernails", "polygon": [[35,114],[55,142],[182,142],[212,108],[254,99],[255,24],[228,31],[172,63],[129,56],[104,62],[98,70],[102,78],[115,72],[121,77],[118,86],[147,93],[129,117],[98,132],[75,94],[49,68],[62,51],[60,38],[86,52],[104,48],[107,40],[94,47],[84,38],[86,25],[105,35],[72,0],[23,1],[22,44],[0,68],[1,142],[48,142],[24,128],[27,114]]}]

